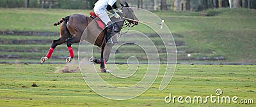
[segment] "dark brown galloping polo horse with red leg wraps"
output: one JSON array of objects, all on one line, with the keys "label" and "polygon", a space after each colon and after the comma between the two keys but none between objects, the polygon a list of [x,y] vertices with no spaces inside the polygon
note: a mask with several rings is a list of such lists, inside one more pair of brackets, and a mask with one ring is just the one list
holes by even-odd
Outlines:
[{"label": "dark brown galloping polo horse with red leg wraps", "polygon": [[[125,25],[126,27],[133,27],[134,25],[138,25],[138,22],[134,21],[138,20],[138,18],[134,14],[134,11],[131,9],[129,4],[125,2],[125,4],[120,3],[120,5],[122,7],[118,8],[118,10],[122,11],[116,11],[116,13],[118,13],[118,15],[120,15],[121,18],[111,17],[111,20],[114,24],[113,29],[115,29],[113,30],[112,37],[116,33],[120,33],[121,29]],[[50,59],[51,54],[54,51],[54,48],[56,48],[56,46],[61,45],[63,43],[67,43],[67,48],[70,55],[69,57],[67,57],[66,62],[72,61],[72,59],[74,58],[74,53],[71,45],[73,43],[79,43],[80,41],[85,40],[101,48],[100,59],[95,59],[94,57],[92,57],[90,61],[95,62],[96,64],[100,64],[101,72],[106,73],[107,71],[105,69],[105,62],[108,61],[108,57],[113,46],[113,43],[110,46],[106,45],[106,25],[103,25],[103,28],[98,27],[102,26],[102,24],[97,25],[97,22],[95,22],[95,20],[99,21],[99,17],[95,17],[96,18],[93,19],[93,17],[87,17],[82,14],[73,14],[65,18],[62,18],[60,22],[55,23],[54,25],[61,24],[60,38],[52,41],[51,47],[47,55],[45,55],[45,57],[41,57],[40,59],[41,64],[43,64],[47,59]],[[133,20],[126,20],[126,18],[131,18]]]}]

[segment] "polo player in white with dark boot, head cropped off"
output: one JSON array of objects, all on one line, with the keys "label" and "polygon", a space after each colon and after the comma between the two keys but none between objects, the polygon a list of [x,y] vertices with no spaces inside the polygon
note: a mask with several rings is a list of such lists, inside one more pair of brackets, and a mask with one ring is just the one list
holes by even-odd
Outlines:
[{"label": "polo player in white with dark boot, head cropped off", "polygon": [[115,11],[112,10],[112,7],[117,10],[117,6],[116,6],[115,3],[116,3],[116,0],[99,0],[99,1],[97,1],[97,3],[94,4],[94,8],[93,8],[94,13],[108,27],[107,33],[105,35],[107,43],[112,43],[113,42],[112,39],[111,39],[111,34],[112,34],[112,29],[113,29],[113,22],[110,20],[106,10],[108,10],[110,13],[113,13],[115,18],[121,18],[120,15],[118,15],[118,13],[116,13]]}]

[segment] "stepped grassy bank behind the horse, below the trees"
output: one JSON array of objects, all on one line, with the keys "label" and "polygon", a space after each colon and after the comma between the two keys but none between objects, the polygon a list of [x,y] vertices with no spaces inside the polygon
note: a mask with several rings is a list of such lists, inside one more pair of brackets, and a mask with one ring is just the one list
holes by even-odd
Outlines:
[{"label": "stepped grassy bank behind the horse, below the trees", "polygon": [[[60,27],[53,26],[62,17],[73,13],[88,15],[90,10],[58,10],[35,8],[12,8],[0,10],[1,23],[0,42],[2,43],[2,62],[20,61],[39,62],[51,46],[53,39],[58,39]],[[177,45],[178,62],[256,62],[256,11],[240,9],[218,8],[202,12],[195,11],[154,11],[165,20],[171,30]],[[140,19],[143,20],[143,19]],[[145,34],[152,33],[140,24],[132,29]],[[15,36],[17,32],[31,32]],[[33,33],[32,33],[33,31]],[[56,32],[48,36],[38,35],[36,32]],[[134,38],[135,40],[136,38]],[[150,39],[161,43],[152,36]],[[136,39],[136,41],[143,39]],[[73,45],[77,56],[78,46]],[[163,48],[159,48],[163,49]],[[134,52],[134,48],[119,51],[120,59],[126,59]],[[161,52],[162,50],[159,50]],[[191,57],[187,54],[191,53]],[[49,62],[65,62],[68,56],[65,44],[58,46]],[[140,56],[143,56],[142,54]],[[57,60],[57,61],[56,61]],[[47,61],[48,62],[48,61]]]}]

